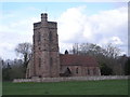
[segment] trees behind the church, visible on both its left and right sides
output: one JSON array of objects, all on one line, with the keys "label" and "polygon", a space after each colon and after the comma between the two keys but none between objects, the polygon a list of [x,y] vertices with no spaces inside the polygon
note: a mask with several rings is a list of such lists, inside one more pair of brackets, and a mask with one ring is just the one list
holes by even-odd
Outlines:
[{"label": "trees behind the church, visible on both its left and right sides", "polygon": [[[13,79],[23,79],[26,75],[26,68],[32,53],[30,43],[20,43],[14,50],[21,59],[3,60],[0,58],[2,66],[2,80],[12,81]],[[67,51],[65,53],[68,53]],[[93,43],[75,43],[69,54],[92,56],[99,63],[102,75],[128,75],[130,74],[130,57],[120,56],[120,50],[112,43],[101,47]]]}]

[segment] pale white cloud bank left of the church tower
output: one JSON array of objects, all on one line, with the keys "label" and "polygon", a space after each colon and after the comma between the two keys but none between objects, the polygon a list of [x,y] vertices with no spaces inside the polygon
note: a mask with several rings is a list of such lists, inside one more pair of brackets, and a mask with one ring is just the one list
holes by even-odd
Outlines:
[{"label": "pale white cloud bank left of the church tower", "polygon": [[[6,18],[6,17],[5,17]],[[16,22],[5,22],[0,27],[0,57],[6,59],[16,58],[14,52],[16,45],[23,42],[32,43],[32,23],[37,18],[16,19]]]}]

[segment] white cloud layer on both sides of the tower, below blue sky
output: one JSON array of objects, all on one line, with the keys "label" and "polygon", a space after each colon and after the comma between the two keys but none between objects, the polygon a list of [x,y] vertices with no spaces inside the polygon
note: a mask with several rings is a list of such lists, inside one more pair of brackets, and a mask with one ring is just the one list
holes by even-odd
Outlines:
[{"label": "white cloud layer on both sides of the tower, below blue sky", "polygon": [[[128,11],[119,8],[87,15],[86,6],[70,8],[57,19],[60,50],[72,48],[73,43],[96,43],[104,45],[113,42],[127,52]],[[15,17],[14,15],[5,15]],[[6,18],[4,17],[4,18]],[[32,24],[39,22],[39,16],[3,22],[0,24],[0,57],[14,58],[17,43],[32,41]]]}]

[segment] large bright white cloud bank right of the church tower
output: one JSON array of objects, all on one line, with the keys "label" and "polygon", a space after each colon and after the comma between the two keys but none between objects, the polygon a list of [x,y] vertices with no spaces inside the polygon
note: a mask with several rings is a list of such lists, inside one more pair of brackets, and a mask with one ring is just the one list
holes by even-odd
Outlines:
[{"label": "large bright white cloud bank right of the church tower", "polygon": [[[120,48],[127,45],[127,8],[101,11],[93,15],[87,15],[86,9],[72,8],[61,14],[57,20],[61,52],[68,48],[67,44],[70,47],[73,43],[90,42],[105,45],[112,42]],[[127,53],[125,48],[122,51]]]}]

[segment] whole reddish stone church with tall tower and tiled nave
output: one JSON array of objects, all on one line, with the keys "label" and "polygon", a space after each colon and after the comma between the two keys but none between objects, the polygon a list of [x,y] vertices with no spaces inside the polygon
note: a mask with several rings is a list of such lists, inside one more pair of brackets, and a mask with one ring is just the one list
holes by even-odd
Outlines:
[{"label": "whole reddish stone church with tall tower and tiled nave", "polygon": [[60,54],[57,23],[48,22],[47,13],[41,14],[41,22],[34,24],[32,43],[26,78],[101,75],[94,57]]}]

